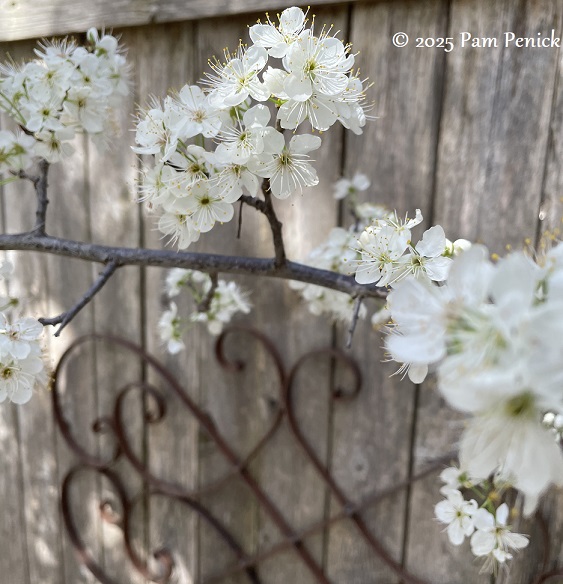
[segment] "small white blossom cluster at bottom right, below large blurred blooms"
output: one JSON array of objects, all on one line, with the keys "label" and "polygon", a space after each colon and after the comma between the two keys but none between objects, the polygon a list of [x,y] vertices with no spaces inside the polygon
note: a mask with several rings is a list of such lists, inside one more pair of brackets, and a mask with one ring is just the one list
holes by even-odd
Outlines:
[{"label": "small white blossom cluster at bottom right, below large blurred blooms", "polygon": [[[507,524],[508,505],[501,503],[495,509],[494,501],[504,488],[498,483],[498,477],[492,483],[488,480],[474,483],[467,472],[450,467],[440,478],[446,483],[440,490],[445,499],[434,509],[436,518],[447,525],[448,538],[453,545],[461,545],[466,537],[471,538],[473,554],[485,558],[483,571],[496,573],[499,565],[512,558],[511,551],[528,545],[527,536],[512,532]],[[478,493],[482,504],[475,499],[466,500],[462,494],[464,489]]]}]

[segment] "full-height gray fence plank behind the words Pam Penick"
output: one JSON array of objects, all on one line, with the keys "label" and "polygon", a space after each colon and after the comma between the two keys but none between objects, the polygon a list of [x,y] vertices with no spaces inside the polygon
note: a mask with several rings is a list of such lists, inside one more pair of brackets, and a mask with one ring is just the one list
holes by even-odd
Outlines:
[{"label": "full-height gray fence plank behind the words Pam Penick", "polygon": [[[561,30],[560,2],[454,1],[449,36],[503,38]],[[457,47],[448,54],[436,170],[435,222],[451,239],[481,241],[503,253],[534,238],[545,167],[558,53],[553,49]],[[457,422],[456,422],[457,420]],[[463,423],[426,389],[420,396],[416,468],[447,452]],[[469,546],[454,548],[433,518],[439,481],[413,489],[408,564],[433,582],[488,582]],[[537,538],[537,532],[535,533]],[[531,546],[502,581],[529,582],[540,557]],[[429,560],[431,558],[431,561]],[[508,577],[508,580],[505,578]]]}]

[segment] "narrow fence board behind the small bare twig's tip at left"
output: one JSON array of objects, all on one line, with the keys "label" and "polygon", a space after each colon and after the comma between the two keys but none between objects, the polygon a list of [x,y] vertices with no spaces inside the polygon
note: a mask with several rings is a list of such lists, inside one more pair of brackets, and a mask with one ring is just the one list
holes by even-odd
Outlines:
[{"label": "narrow fence board behind the small bare twig's tip at left", "polygon": [[[86,138],[75,139],[75,153],[68,162],[59,163],[51,169],[49,180],[49,210],[47,230],[53,235],[88,241],[90,232],[89,193],[86,185],[87,153]],[[69,197],[72,204],[69,204]],[[97,274],[95,268],[77,260],[48,257],[48,283],[51,292],[49,312],[56,315],[73,306],[90,287]],[[60,339],[51,343],[55,362],[63,349],[73,339],[94,330],[93,306],[86,306],[64,330]],[[52,334],[54,329],[49,329]],[[100,441],[92,431],[92,421],[98,413],[98,384],[96,378],[95,352],[85,347],[68,367],[64,382],[60,386],[64,400],[64,415],[73,429],[75,438],[94,455],[100,453]],[[75,455],[68,449],[60,434],[57,435],[57,459],[59,480],[77,463]],[[81,534],[92,550],[94,557],[103,564],[101,546],[101,520],[99,513],[100,477],[85,471],[77,475],[71,490],[71,506]],[[77,560],[70,539],[63,537],[63,566],[65,578],[73,582],[95,582]]]}]

